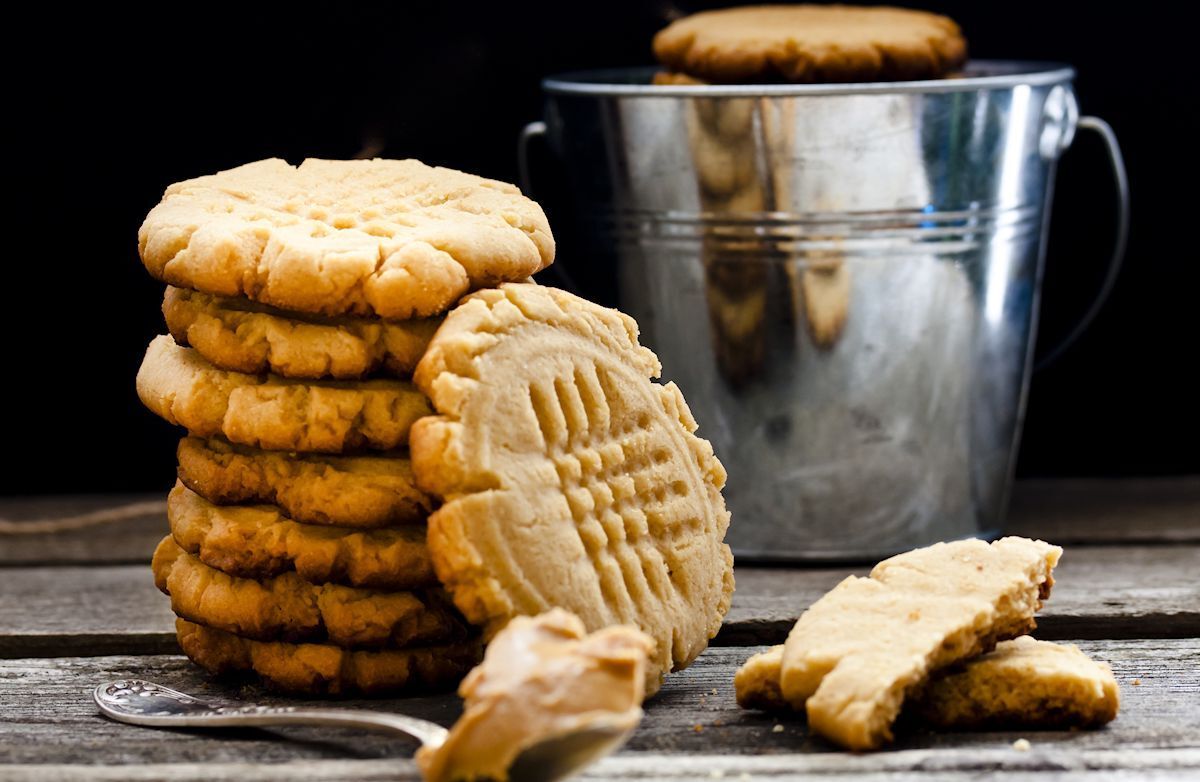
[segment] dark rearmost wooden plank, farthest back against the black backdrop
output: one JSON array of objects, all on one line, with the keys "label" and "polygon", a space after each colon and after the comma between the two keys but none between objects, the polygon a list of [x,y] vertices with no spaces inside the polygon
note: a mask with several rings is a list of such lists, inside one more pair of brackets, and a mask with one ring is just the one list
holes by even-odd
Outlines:
[{"label": "dark rearmost wooden plank, farthest back against the black backdrop", "polygon": [[[0,566],[150,561],[167,529],[162,512],[68,524],[71,529],[60,533],[12,530],[20,523],[161,503],[164,494],[0,498]],[[1019,481],[1008,531],[1058,543],[1200,542],[1200,476]]]}]

